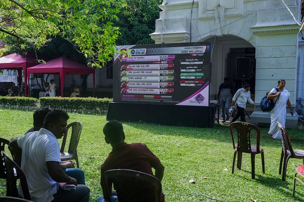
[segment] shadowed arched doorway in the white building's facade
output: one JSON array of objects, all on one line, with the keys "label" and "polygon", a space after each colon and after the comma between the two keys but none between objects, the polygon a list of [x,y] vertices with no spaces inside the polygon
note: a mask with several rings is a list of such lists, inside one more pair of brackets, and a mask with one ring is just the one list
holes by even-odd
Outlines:
[{"label": "shadowed arched doorway in the white building's facade", "polygon": [[[204,39],[211,42],[211,82],[210,99],[217,98],[219,85],[225,77],[229,77],[233,86],[238,89],[244,83],[251,85],[251,95],[255,94],[255,47],[248,41],[237,36],[221,36]],[[247,61],[240,65],[239,73],[248,72],[249,76],[238,78],[238,58]],[[246,60],[248,59],[248,60]],[[239,59],[240,61],[240,59]],[[242,61],[242,60],[241,60]]]}]

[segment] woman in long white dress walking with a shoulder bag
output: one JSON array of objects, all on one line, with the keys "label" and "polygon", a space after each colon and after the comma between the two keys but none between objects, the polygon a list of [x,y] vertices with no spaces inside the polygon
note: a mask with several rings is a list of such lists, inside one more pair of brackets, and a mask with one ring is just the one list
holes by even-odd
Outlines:
[{"label": "woman in long white dress walking with a shoulder bag", "polygon": [[268,99],[274,99],[274,102],[276,102],[275,108],[270,111],[271,124],[268,131],[268,134],[272,135],[274,139],[281,139],[277,122],[285,127],[286,105],[290,109],[290,114],[293,115],[293,109],[289,100],[290,93],[284,89],[285,83],[284,79],[280,79],[278,81],[278,88],[273,88],[267,96]]}]

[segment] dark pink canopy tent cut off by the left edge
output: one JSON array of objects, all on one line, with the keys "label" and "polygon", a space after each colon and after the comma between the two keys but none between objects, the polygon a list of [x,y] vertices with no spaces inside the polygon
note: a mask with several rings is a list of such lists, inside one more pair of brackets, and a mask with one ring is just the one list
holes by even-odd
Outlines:
[{"label": "dark pink canopy tent cut off by the left edge", "polygon": [[22,83],[22,69],[24,72],[24,90],[25,96],[27,95],[27,83],[26,83],[26,70],[29,67],[36,65],[36,59],[30,55],[22,57],[18,54],[10,54],[0,58],[0,69],[18,70],[19,87]]}]

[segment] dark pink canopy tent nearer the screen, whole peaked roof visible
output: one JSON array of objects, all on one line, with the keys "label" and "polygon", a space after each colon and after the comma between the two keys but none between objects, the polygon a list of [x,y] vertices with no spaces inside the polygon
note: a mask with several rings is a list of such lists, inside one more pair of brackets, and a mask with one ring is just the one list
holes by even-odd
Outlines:
[{"label": "dark pink canopy tent nearer the screen, whole peaked roof visible", "polygon": [[39,64],[27,69],[27,80],[31,73],[59,74],[61,83],[61,96],[63,97],[63,83],[65,74],[93,74],[93,96],[95,93],[95,69],[77,63],[67,58],[56,58],[45,64]]}]

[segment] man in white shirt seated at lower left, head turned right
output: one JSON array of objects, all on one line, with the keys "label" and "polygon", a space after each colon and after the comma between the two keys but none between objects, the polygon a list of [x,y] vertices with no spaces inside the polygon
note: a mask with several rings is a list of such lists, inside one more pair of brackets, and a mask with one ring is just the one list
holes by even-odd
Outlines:
[{"label": "man in white shirt seated at lower left, head turned right", "polygon": [[[66,175],[61,167],[57,139],[63,136],[68,118],[65,112],[53,110],[46,116],[43,128],[16,140],[22,149],[21,169],[25,173],[33,201],[89,201],[90,189],[82,184],[77,185],[77,180]],[[63,190],[58,182],[77,187],[75,190]]]}]

